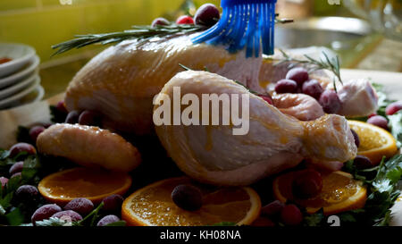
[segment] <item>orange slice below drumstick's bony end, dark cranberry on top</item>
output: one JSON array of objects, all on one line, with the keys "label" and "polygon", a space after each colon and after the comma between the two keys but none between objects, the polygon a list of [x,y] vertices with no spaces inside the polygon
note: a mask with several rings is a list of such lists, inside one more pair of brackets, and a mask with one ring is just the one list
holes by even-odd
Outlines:
[{"label": "orange slice below drumstick's bony end, dark cranberry on top", "polygon": [[292,183],[297,173],[282,174],[273,181],[276,199],[306,207],[308,214],[314,214],[322,208],[324,215],[336,215],[362,208],[365,204],[367,189],[348,172],[322,172],[322,192],[314,198],[298,199],[292,193]]}]

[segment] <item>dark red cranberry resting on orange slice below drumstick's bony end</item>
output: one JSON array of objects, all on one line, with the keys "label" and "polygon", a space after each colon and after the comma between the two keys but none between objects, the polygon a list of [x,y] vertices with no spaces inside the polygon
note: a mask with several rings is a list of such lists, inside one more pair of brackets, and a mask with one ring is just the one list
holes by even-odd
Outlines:
[{"label": "dark red cranberry resting on orange slice below drumstick's bony end", "polygon": [[292,191],[297,198],[314,198],[322,191],[321,173],[313,169],[299,172],[293,181]]}]

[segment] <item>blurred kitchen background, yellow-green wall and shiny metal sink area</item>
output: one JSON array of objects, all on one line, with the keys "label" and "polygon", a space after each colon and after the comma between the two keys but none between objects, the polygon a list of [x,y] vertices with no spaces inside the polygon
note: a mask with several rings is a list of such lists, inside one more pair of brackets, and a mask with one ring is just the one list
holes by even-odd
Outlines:
[{"label": "blurred kitchen background, yellow-green wall and shiny metal sink area", "polygon": [[[159,16],[174,21],[205,3],[220,1],[1,0],[0,42],[36,49],[45,98],[52,97],[105,48],[90,46],[51,57],[52,45],[77,34],[150,24]],[[344,68],[402,72],[401,4],[402,0],[279,0],[277,13],[295,22],[278,26],[276,46],[325,46],[340,55]]]}]

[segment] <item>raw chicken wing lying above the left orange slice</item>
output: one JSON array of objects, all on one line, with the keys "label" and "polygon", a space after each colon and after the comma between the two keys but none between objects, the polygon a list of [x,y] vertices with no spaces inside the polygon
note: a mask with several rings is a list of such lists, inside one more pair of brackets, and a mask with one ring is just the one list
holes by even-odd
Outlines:
[{"label": "raw chicken wing lying above the left orange slice", "polygon": [[103,167],[130,172],[141,162],[141,156],[121,136],[97,127],[55,124],[42,132],[38,151],[50,156],[63,156],[83,166]]}]

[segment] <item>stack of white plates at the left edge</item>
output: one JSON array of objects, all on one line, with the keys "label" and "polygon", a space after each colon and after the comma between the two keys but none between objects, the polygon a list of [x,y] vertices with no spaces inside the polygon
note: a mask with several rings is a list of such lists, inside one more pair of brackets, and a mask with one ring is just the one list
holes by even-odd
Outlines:
[{"label": "stack of white plates at the left edge", "polygon": [[22,44],[0,43],[0,110],[39,101],[40,85],[36,51]]}]

